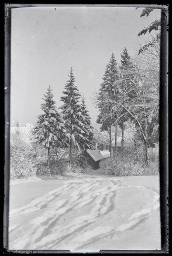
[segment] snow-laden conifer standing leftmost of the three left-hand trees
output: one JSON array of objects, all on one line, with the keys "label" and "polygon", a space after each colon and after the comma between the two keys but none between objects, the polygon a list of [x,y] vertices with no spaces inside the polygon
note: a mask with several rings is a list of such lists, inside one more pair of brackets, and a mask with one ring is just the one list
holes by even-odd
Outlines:
[{"label": "snow-laden conifer standing leftmost of the three left-hand trees", "polygon": [[44,113],[38,116],[37,125],[33,128],[36,142],[48,148],[48,166],[50,148],[67,146],[63,119],[58,113],[55,106],[56,101],[53,98],[53,90],[49,85],[44,98],[42,98],[45,101],[41,104],[41,110]]}]

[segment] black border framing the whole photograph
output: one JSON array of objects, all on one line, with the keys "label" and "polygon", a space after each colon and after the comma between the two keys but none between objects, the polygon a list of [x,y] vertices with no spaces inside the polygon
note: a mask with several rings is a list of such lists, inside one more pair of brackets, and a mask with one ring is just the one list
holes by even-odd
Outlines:
[{"label": "black border framing the whole photograph", "polygon": [[[23,1],[22,1],[23,2]],[[69,250],[10,250],[8,251],[8,211],[9,211],[9,180],[10,180],[10,68],[11,68],[11,9],[34,6],[119,6],[119,7],[154,7],[161,9],[161,63],[160,63],[160,137],[159,137],[159,161],[160,161],[160,215],[161,215],[161,251],[118,251],[101,250],[98,253],[114,254],[145,254],[168,253],[168,4],[30,4],[6,3],[4,4],[4,50],[5,50],[5,123],[4,123],[4,253],[40,253],[59,254],[73,253]],[[144,243],[144,241],[143,241]],[[73,253],[79,254],[79,253]],[[85,253],[84,253],[85,254]],[[97,254],[97,253],[87,253]]]}]

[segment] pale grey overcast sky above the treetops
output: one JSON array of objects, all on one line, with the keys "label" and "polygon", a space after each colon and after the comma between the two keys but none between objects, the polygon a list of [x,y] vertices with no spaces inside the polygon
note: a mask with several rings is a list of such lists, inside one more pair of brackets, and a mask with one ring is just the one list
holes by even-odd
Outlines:
[{"label": "pale grey overcast sky above the treetops", "polygon": [[12,9],[11,26],[11,123],[35,124],[41,114],[43,94],[51,85],[56,106],[70,68],[75,85],[84,94],[92,123],[98,110],[92,92],[100,83],[111,53],[119,63],[124,47],[135,55],[137,34],[153,20],[155,9],[140,18],[143,8],[53,6]]}]

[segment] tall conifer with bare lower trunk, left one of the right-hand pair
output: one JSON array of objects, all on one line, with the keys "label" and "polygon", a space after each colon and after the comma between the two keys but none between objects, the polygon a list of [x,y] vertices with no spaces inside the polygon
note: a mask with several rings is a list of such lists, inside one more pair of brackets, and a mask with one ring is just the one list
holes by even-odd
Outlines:
[{"label": "tall conifer with bare lower trunk, left one of the right-hand pair", "polygon": [[[111,58],[106,66],[105,74],[102,79],[104,82],[101,83],[99,90],[99,99],[101,99],[101,103],[98,105],[100,114],[98,115],[97,123],[101,124],[102,131],[109,130],[111,156],[111,125],[114,124],[117,118],[117,112],[113,111],[113,113],[111,113],[111,103],[109,102],[109,104],[103,104],[102,99],[108,97],[111,100],[117,100],[118,98],[118,68],[114,53],[111,54]],[[107,117],[107,113],[111,113],[110,118]]]}]

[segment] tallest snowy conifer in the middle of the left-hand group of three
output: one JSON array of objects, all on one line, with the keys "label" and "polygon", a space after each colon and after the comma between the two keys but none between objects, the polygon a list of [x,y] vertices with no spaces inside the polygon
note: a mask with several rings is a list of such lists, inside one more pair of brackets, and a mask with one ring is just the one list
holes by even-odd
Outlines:
[{"label": "tallest snowy conifer in the middle of the left-hand group of three", "polygon": [[63,118],[65,120],[65,127],[70,134],[70,165],[72,164],[72,145],[76,146],[80,150],[80,141],[84,141],[84,124],[81,119],[81,106],[80,98],[81,94],[74,84],[75,77],[73,75],[72,68],[68,75],[70,79],[66,82],[65,90],[61,100],[64,102],[62,109]]}]

